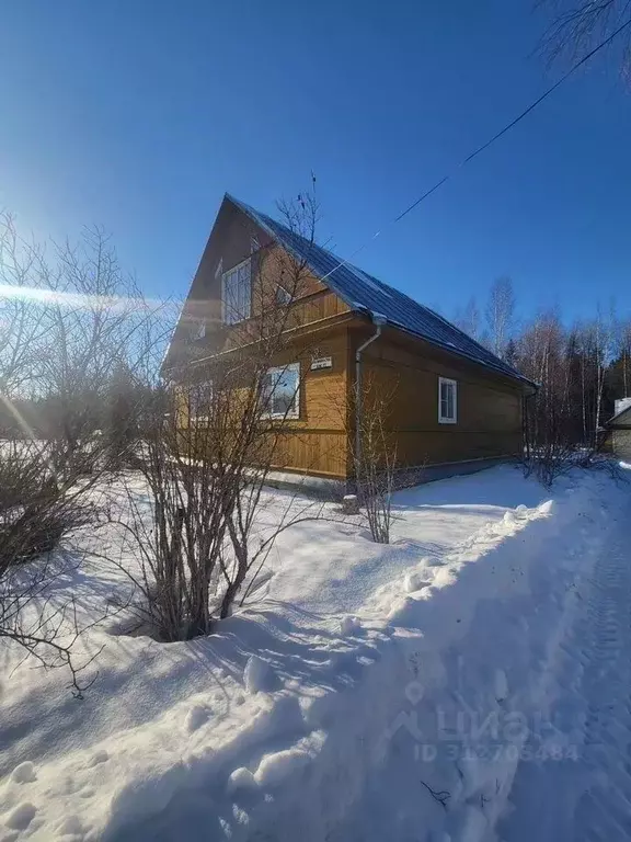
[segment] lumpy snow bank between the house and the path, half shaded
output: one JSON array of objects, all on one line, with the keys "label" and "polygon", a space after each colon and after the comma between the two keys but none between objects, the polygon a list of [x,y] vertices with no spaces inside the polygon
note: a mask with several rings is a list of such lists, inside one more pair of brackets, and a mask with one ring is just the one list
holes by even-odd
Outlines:
[{"label": "lumpy snow bank between the house and the path, half shaded", "polygon": [[[0,840],[196,839],[202,827],[233,842],[377,842],[420,828],[483,839],[618,505],[589,476],[553,500],[507,476],[404,492],[389,547],[358,528],[305,526],[291,554],[279,546],[275,590],[219,634],[126,640],[136,673],[124,686],[142,689],[131,698],[145,718],[118,704],[103,724],[88,695],[72,703],[92,717],[92,741],[83,731],[39,762],[24,738],[0,785]],[[443,528],[456,545],[440,544]],[[305,530],[328,544],[300,565]],[[122,651],[101,662],[114,703]]]}]

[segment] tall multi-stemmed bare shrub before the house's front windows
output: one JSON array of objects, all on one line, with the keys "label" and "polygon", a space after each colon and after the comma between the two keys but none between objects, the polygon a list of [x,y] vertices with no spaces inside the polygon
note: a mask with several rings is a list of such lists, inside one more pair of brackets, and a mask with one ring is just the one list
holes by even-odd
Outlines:
[{"label": "tall multi-stemmed bare shrub before the house's front windows", "polygon": [[[313,241],[312,196],[282,212],[297,236]],[[221,326],[208,320],[200,331],[199,308],[184,308],[165,379],[145,413],[138,470],[150,512],[130,497],[123,526],[140,554],[139,570],[128,570],[137,610],[165,640],[207,634],[227,617],[291,521],[288,515],[254,545],[266,479],[299,433],[292,421],[313,349],[295,337],[308,320],[300,298],[310,273],[306,261],[273,243],[252,263],[251,312]],[[229,337],[222,353],[204,356],[198,339],[208,339],[206,329],[221,343]]]}]

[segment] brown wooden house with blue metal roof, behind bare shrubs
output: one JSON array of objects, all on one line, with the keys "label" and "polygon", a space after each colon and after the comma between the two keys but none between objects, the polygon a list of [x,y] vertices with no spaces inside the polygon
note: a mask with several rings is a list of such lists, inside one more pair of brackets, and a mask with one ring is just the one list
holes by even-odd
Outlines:
[{"label": "brown wooden house with blue metal roof, behind bare shrubs", "polygon": [[[438,314],[228,194],[163,364],[171,379],[177,367],[195,365],[186,345],[206,363],[234,346],[237,327],[256,316],[260,257],[278,250],[309,272],[290,304],[300,362],[278,361],[282,388],[297,392],[278,469],[353,476],[357,371],[388,396],[401,468],[466,473],[521,453],[523,405],[534,384]],[[283,278],[276,281],[267,297],[286,306]],[[307,342],[317,345],[316,359],[298,353]]]}]

